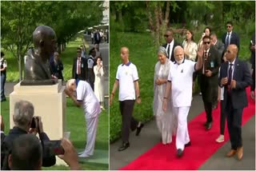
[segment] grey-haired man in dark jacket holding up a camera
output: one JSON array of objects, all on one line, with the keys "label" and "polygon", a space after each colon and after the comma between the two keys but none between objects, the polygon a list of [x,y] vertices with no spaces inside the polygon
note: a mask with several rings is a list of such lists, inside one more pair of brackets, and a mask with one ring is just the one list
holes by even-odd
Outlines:
[{"label": "grey-haired man in dark jacket holding up a camera", "polygon": [[[10,169],[8,167],[8,155],[11,153],[13,141],[26,133],[39,134],[41,144],[43,141],[49,141],[49,137],[43,132],[41,117],[34,117],[34,106],[29,101],[18,101],[14,105],[14,128],[10,129],[10,133],[5,137],[1,149],[5,149],[5,157],[2,161],[2,169]],[[32,126],[31,126],[32,125]],[[31,128],[34,127],[34,128]],[[50,167],[55,165],[56,158],[54,155],[42,153],[42,166]]]}]

